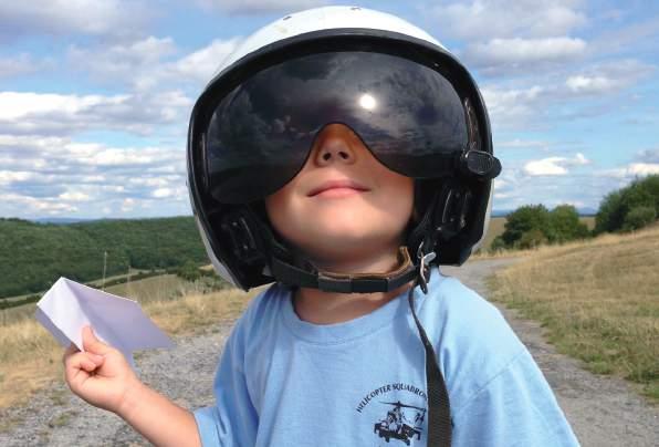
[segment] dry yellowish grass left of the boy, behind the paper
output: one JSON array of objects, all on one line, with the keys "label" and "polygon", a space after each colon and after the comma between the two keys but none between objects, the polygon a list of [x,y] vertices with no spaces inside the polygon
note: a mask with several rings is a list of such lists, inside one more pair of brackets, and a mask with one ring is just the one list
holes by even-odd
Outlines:
[{"label": "dry yellowish grass left of the boy, behind the paper", "polygon": [[[196,333],[219,321],[236,319],[259,292],[259,289],[249,293],[229,289],[176,298],[180,290],[179,293],[165,293],[149,289],[167,287],[170,279],[154,280],[156,278],[143,280],[149,281],[147,284],[136,281],[132,287],[144,288],[144,297],[150,297],[144,299],[145,312],[170,335]],[[33,318],[23,316],[0,325],[0,408],[27,402],[34,392],[63,375],[61,358],[64,350]]]}]

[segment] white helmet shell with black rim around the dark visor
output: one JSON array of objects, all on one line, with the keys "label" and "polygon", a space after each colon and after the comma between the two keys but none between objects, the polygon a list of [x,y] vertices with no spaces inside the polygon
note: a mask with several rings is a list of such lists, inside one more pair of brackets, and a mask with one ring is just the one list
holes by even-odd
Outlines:
[{"label": "white helmet shell with black rim around the dark visor", "polygon": [[[193,164],[191,162],[193,139],[193,122],[196,111],[203,108],[205,101],[211,96],[218,86],[228,82],[231,79],[245,76],[249,70],[254,65],[254,61],[262,60],[274,51],[285,50],[287,45],[297,44],[306,39],[313,40],[317,35],[322,38],[332,35],[351,35],[377,37],[378,39],[390,39],[396,44],[416,45],[417,48],[430,49],[437,54],[438,59],[451,65],[452,70],[460,77],[462,84],[469,85],[474,92],[472,96],[475,97],[475,108],[479,110],[480,116],[483,121],[483,139],[487,149],[492,153],[491,132],[482,96],[478,91],[475,82],[469,74],[468,70],[452,55],[450,52],[435,38],[428,34],[420,28],[389,13],[365,9],[360,7],[323,7],[314,8],[301,12],[295,12],[285,15],[276,21],[273,21],[265,27],[259,29],[253,34],[245,38],[221,63],[216,72],[213,79],[207,85],[205,92],[200,95],[192,117],[190,119],[190,131],[188,135],[188,187],[190,193],[190,201],[200,235],[208,252],[208,256],[218,272],[223,279],[232,284],[248,290],[252,287],[260,285],[274,280],[270,276],[266,266],[261,266],[259,271],[245,272],[245,269],[239,266],[239,262],[227,249],[224,241],[219,241],[217,237],[217,228],[210,224],[205,216],[202,201],[199,198],[199,187],[196,185],[193,174]],[[488,222],[490,219],[492,188],[491,181],[479,186],[479,197],[477,198],[478,212],[475,212],[474,221],[470,226],[469,235],[458,235],[453,240],[444,245],[446,252],[452,253],[448,262],[461,264],[472,251],[474,251],[484,238]],[[415,250],[416,248],[411,248]],[[442,256],[437,258],[441,261]],[[444,257],[446,261],[447,258]],[[436,262],[437,262],[436,261]]]}]

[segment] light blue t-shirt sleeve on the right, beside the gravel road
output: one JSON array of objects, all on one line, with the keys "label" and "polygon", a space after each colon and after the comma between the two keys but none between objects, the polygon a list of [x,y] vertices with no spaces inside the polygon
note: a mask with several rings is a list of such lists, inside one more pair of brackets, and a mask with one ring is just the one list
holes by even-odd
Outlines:
[{"label": "light blue t-shirt sleeve on the right, beside the gravel road", "polygon": [[523,349],[453,416],[459,446],[578,446],[552,389]]}]

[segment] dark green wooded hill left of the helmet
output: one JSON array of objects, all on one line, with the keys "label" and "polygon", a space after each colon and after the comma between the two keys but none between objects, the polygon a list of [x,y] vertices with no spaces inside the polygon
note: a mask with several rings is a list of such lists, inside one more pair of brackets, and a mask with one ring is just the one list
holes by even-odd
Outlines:
[{"label": "dark green wooded hill left of the helmet", "polygon": [[0,218],[0,299],[46,290],[57,278],[91,281],[208,262],[192,217],[94,220],[69,225]]}]

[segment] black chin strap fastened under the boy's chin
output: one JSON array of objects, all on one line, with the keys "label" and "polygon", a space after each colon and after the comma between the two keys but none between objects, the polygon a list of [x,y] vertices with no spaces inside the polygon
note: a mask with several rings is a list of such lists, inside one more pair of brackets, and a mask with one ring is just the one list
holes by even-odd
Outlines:
[{"label": "black chin strap fastened under the boy's chin", "polygon": [[399,267],[387,273],[344,274],[327,271],[307,271],[272,257],[270,269],[278,281],[287,285],[320,289],[324,292],[369,293],[390,292],[417,278],[407,247],[398,249]]}]

